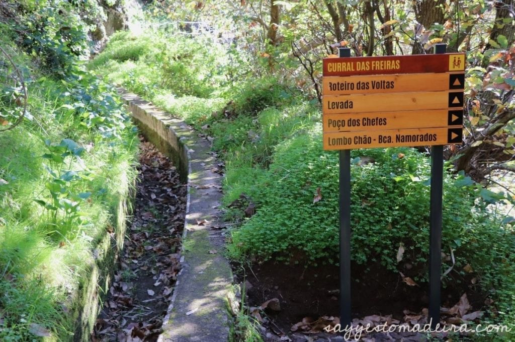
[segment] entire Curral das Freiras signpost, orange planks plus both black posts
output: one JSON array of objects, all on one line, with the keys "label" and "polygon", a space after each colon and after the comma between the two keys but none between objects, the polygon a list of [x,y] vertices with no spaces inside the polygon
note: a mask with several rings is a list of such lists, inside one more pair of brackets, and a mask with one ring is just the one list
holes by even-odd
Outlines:
[{"label": "entire Curral das Freiras signpost, orange planks plus both black posts", "polygon": [[340,323],[351,323],[350,150],[432,145],[430,305],[440,320],[443,145],[462,142],[465,54],[323,60],[323,148],[340,151]]}]

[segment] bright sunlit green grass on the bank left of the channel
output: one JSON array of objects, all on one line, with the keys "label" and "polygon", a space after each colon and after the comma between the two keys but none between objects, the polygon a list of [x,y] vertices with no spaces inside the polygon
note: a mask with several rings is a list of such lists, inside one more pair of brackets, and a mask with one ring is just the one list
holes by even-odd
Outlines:
[{"label": "bright sunlit green grass on the bank left of the channel", "polygon": [[[80,295],[100,260],[95,251],[101,253],[106,227],[120,226],[118,206],[135,178],[138,139],[127,121],[116,127],[118,138],[102,137],[101,125],[88,127],[76,110],[66,107],[90,105],[66,96],[67,90],[114,105],[105,100],[112,89],[91,82],[86,74],[87,86],[44,76],[23,52],[11,51],[30,70],[34,119],[0,133],[0,340],[39,340],[42,335],[49,335],[49,341],[72,340],[84,301],[96,299]],[[111,120],[99,110],[105,115],[102,122]],[[110,112],[116,113],[114,107]],[[75,141],[81,152],[50,151],[63,139]],[[36,201],[62,207],[45,208]]]}]

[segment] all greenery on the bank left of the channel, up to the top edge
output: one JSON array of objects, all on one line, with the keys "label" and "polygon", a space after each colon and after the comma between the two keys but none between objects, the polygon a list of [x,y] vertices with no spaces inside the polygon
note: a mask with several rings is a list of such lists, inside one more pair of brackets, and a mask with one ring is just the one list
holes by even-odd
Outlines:
[{"label": "all greenery on the bank left of the channel, up to the top edge", "polygon": [[104,290],[95,272],[121,248],[110,240],[123,235],[138,139],[115,89],[81,66],[80,14],[96,10],[0,4],[2,341],[80,338]]}]

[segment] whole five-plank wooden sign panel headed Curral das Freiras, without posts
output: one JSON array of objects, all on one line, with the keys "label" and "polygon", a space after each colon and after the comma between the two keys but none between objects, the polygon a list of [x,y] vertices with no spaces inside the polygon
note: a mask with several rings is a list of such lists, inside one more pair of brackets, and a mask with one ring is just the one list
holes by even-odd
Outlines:
[{"label": "whole five-plank wooden sign panel headed Curral das Freiras, without posts", "polygon": [[325,58],[324,150],[462,142],[465,54]]}]

